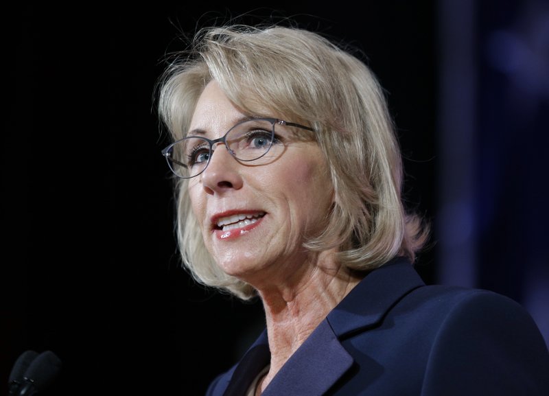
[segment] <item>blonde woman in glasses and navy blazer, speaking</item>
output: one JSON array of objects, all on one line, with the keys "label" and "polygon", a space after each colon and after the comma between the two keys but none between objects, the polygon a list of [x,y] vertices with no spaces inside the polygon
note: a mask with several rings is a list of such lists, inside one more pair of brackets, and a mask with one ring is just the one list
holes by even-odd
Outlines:
[{"label": "blonde woman in glasses and navy blazer, speaking", "polygon": [[425,286],[382,89],[294,27],[217,27],[161,78],[183,263],[259,296],[266,330],[207,395],[547,395],[549,353],[504,296]]}]

